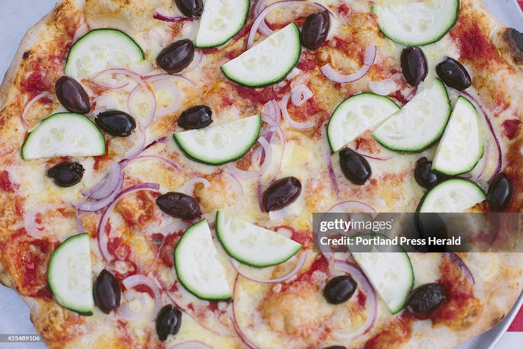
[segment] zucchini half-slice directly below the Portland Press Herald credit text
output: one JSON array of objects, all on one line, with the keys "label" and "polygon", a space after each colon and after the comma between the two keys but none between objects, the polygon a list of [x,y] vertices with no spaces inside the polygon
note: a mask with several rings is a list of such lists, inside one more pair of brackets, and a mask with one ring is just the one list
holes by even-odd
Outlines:
[{"label": "zucchini half-slice directly below the Portland Press Herald credit text", "polygon": [[361,245],[357,247],[355,245],[358,237],[376,240],[391,239],[381,234],[361,234],[351,238],[350,241],[353,244],[348,247],[354,260],[367,275],[389,310],[393,314],[399,312],[405,305],[414,285],[414,272],[410,258],[401,246],[384,245],[379,242],[365,246],[367,251],[363,252]]}]

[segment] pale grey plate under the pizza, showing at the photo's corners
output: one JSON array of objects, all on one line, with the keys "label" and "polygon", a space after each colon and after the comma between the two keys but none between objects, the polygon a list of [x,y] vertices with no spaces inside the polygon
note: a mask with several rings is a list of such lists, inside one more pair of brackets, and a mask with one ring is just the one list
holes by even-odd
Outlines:
[{"label": "pale grey plate under the pizza, showing at the photo's corners", "polygon": [[[27,30],[45,16],[54,7],[55,2],[56,0],[0,0],[0,47],[2,47],[0,50],[0,76],[4,76],[7,71],[19,42]],[[483,2],[504,24],[523,32],[523,16],[516,0],[484,0]],[[514,309],[495,328],[463,343],[459,349],[493,348],[516,316],[521,303],[523,303],[523,297],[519,297]],[[29,309],[15,291],[3,286],[0,286],[0,333],[35,334],[35,329],[29,321]],[[0,347],[9,349],[46,348],[41,343],[9,345],[1,343]]]}]

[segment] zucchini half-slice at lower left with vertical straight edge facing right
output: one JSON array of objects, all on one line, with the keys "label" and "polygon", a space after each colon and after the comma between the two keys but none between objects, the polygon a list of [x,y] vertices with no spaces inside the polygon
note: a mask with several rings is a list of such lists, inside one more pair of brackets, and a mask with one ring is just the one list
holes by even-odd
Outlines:
[{"label": "zucchini half-slice at lower left with vertical straight edge facing right", "polygon": [[67,309],[93,315],[93,273],[89,234],[74,235],[51,254],[47,280],[54,298]]}]

